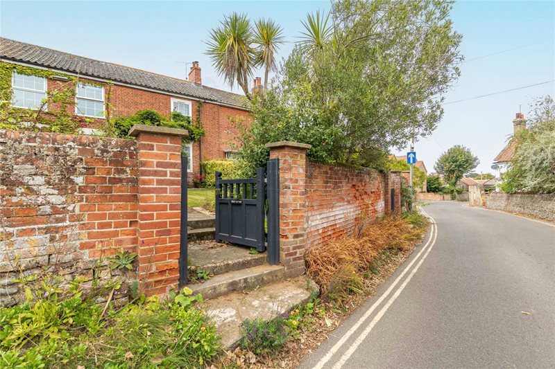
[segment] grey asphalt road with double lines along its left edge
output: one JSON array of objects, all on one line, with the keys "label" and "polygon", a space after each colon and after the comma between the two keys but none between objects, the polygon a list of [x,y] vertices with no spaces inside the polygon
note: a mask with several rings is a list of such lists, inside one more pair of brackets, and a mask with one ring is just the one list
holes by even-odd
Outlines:
[{"label": "grey asphalt road with double lines along its left edge", "polygon": [[555,368],[555,226],[463,204],[301,368]]}]

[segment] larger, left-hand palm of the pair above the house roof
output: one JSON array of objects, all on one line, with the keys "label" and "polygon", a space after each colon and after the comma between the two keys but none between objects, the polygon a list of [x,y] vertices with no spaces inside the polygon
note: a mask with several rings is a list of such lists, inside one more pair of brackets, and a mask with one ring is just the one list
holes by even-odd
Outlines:
[{"label": "larger, left-hand palm of the pair above the house roof", "polygon": [[207,55],[210,55],[216,71],[223,75],[230,87],[237,82],[249,99],[248,78],[253,75],[256,62],[255,50],[251,46],[253,36],[247,16],[234,12],[210,31],[210,41],[207,42]]}]

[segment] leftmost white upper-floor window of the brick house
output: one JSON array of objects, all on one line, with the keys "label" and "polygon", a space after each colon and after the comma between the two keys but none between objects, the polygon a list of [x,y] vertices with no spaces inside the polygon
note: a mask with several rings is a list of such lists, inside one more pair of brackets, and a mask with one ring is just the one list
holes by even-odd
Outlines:
[{"label": "leftmost white upper-floor window of the brick house", "polygon": [[13,73],[12,104],[14,107],[37,109],[46,98],[46,78]]}]

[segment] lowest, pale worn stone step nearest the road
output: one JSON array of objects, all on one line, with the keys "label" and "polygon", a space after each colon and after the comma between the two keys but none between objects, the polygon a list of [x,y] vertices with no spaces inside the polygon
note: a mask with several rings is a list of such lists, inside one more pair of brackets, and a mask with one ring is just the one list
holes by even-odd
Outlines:
[{"label": "lowest, pale worn stone step nearest the road", "polygon": [[287,314],[297,305],[307,303],[312,291],[318,291],[317,286],[307,282],[306,277],[299,277],[274,282],[248,294],[232,292],[207,300],[203,308],[216,324],[223,347],[233,350],[241,338],[241,324],[245,319],[270,321]]}]

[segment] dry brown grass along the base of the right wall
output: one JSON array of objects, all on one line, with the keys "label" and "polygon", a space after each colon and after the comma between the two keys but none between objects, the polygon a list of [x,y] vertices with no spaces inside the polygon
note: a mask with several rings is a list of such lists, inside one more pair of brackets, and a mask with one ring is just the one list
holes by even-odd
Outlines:
[{"label": "dry brown grass along the base of the right wall", "polygon": [[340,237],[313,246],[305,255],[307,274],[326,293],[345,283],[346,270],[350,274],[367,271],[380,252],[404,251],[420,239],[424,230],[402,217],[386,217],[364,226],[358,237]]}]

